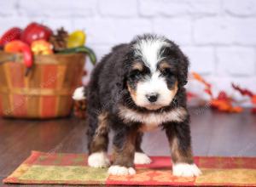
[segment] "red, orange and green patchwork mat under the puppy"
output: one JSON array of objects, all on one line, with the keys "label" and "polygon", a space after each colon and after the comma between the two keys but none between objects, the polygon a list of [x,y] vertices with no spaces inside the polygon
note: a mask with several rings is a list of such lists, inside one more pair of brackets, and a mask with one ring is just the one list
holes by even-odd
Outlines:
[{"label": "red, orange and green patchwork mat under the puppy", "polygon": [[203,173],[197,178],[173,176],[170,157],[151,159],[151,164],[136,166],[136,175],[108,176],[108,168],[88,167],[87,156],[83,154],[32,151],[3,183],[256,186],[256,158],[253,157],[195,157]]}]

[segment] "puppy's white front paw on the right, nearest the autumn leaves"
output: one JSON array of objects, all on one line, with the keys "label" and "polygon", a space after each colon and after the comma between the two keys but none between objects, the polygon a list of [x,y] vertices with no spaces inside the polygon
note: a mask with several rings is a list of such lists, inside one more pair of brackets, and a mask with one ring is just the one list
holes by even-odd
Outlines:
[{"label": "puppy's white front paw on the right, nearest the autumn leaves", "polygon": [[177,163],[172,167],[172,174],[177,177],[194,177],[199,176],[201,171],[195,164]]}]

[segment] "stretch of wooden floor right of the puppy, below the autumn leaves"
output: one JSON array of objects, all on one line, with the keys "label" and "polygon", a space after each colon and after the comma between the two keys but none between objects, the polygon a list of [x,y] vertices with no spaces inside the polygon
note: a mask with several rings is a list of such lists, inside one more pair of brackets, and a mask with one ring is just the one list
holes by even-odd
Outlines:
[{"label": "stretch of wooden floor right of the puppy, below the autumn leaves", "polygon": [[193,110],[190,113],[195,155],[256,156],[255,114],[249,110],[241,114]]}]

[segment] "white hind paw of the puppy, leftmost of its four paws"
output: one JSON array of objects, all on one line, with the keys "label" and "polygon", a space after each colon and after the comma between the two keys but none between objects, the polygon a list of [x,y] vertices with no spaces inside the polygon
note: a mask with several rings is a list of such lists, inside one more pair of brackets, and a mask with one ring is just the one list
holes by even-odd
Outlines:
[{"label": "white hind paw of the puppy, leftmost of its four paws", "polygon": [[108,156],[105,152],[96,152],[92,153],[88,157],[88,165],[90,167],[108,167],[110,165],[110,161],[108,160]]}]

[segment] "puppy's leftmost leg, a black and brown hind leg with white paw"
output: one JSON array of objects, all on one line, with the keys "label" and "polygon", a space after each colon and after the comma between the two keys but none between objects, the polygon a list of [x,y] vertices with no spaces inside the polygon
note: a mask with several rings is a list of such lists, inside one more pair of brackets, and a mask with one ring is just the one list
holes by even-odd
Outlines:
[{"label": "puppy's leftmost leg, a black and brown hind leg with white paw", "polygon": [[90,167],[108,167],[108,113],[88,115],[88,165]]}]

